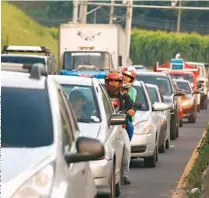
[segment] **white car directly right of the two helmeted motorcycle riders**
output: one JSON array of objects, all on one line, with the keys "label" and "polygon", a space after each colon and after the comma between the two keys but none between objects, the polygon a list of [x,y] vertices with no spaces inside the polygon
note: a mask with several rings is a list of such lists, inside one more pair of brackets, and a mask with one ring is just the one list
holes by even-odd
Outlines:
[{"label": "white car directly right of the two helmeted motorcycle riders", "polygon": [[134,135],[131,140],[131,157],[144,158],[146,167],[155,167],[158,161],[158,141],[160,137],[160,124],[157,111],[165,111],[168,105],[155,103],[152,105],[148,90],[142,81],[136,81],[137,111],[134,120]]}]

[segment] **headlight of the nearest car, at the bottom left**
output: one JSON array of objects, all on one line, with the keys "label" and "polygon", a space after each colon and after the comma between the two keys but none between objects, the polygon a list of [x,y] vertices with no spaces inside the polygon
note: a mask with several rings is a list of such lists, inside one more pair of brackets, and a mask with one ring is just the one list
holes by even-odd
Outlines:
[{"label": "headlight of the nearest car, at the bottom left", "polygon": [[45,198],[50,196],[54,167],[50,164],[21,186],[12,198]]}]

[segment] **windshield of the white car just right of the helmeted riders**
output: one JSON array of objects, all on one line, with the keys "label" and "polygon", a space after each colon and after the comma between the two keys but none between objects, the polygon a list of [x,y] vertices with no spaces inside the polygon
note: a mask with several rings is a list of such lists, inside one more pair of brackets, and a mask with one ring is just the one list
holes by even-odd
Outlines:
[{"label": "windshield of the white car just right of the helmeted riders", "polygon": [[148,111],[149,105],[143,88],[141,86],[134,86],[134,88],[137,91],[136,103],[140,103],[142,105],[142,108],[140,108],[139,110]]}]

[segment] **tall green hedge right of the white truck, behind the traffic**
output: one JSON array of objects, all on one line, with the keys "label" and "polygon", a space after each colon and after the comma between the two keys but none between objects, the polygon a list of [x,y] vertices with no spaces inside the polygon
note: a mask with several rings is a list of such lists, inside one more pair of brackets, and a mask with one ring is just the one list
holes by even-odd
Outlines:
[{"label": "tall green hedge right of the white truck, behind the traffic", "polygon": [[181,53],[187,61],[209,62],[209,36],[162,31],[132,30],[131,59],[134,64],[153,67]]}]

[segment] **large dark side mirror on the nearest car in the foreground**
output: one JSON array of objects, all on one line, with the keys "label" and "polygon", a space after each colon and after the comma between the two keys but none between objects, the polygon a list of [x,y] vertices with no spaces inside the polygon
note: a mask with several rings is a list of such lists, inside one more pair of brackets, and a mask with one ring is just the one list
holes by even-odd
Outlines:
[{"label": "large dark side mirror on the nearest car in the foreground", "polygon": [[94,138],[79,137],[76,141],[76,149],[77,153],[65,155],[67,164],[98,160],[105,156],[104,145]]}]

